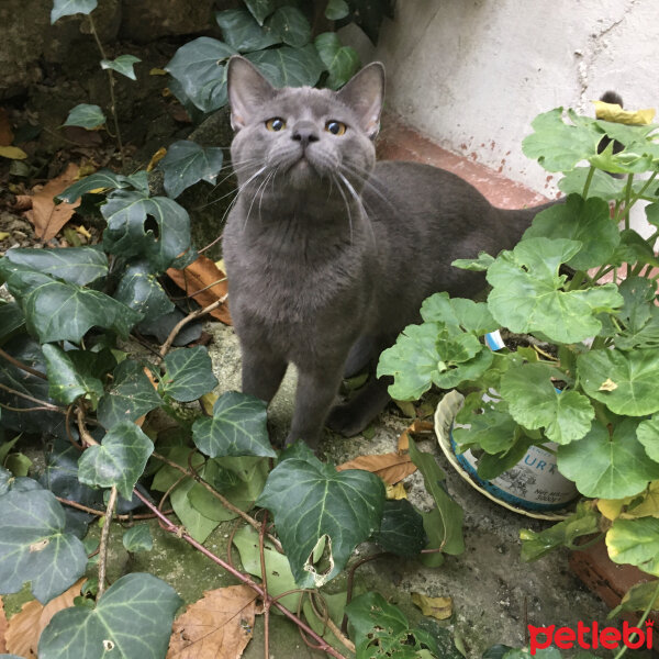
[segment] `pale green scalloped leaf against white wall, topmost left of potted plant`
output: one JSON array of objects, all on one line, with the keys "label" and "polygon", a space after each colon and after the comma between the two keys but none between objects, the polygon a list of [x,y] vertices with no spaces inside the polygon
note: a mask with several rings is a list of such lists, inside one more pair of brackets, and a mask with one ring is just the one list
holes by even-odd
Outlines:
[{"label": "pale green scalloped leaf against white wall, topmost left of potted plant", "polygon": [[530,124],[534,133],[522,142],[528,158],[538,160],[547,171],[570,171],[580,160],[597,154],[602,132],[592,122],[567,124],[562,108],[538,114]]}]

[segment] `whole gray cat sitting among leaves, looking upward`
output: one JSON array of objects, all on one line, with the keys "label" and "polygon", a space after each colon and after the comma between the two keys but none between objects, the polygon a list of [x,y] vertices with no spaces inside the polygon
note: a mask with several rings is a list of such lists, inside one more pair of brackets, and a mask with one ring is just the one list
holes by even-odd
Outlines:
[{"label": "whole gray cat sitting among leaves, looking upward", "polygon": [[538,209],[493,208],[459,177],[377,163],[384,69],[340,91],[273,88],[246,59],[228,63],[239,192],[223,236],[243,391],[269,402],[298,367],[287,445],[316,448],[323,425],[351,436],[389,401],[387,378],[332,409],[344,376],[369,366],[437,291],[472,297],[479,272],[450,266],[512,247]]}]

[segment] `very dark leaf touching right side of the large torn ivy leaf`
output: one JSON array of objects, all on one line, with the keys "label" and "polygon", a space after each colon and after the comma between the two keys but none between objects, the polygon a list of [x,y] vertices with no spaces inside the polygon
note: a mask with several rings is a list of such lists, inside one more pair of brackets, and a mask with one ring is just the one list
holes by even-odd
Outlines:
[{"label": "very dark leaf touching right side of the large torn ivy leaf", "polygon": [[428,538],[423,517],[406,499],[401,499],[384,502],[382,523],[380,530],[373,534],[373,541],[384,551],[412,557],[421,554]]}]

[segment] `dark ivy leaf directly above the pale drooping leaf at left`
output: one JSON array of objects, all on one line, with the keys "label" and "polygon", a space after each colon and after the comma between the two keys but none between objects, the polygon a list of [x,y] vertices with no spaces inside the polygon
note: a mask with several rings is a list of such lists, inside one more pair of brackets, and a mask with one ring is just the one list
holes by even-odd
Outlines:
[{"label": "dark ivy leaf directly above the pale drooping leaf at left", "polygon": [[112,376],[112,386],[100,400],[97,411],[98,420],[107,429],[125,421],[137,421],[163,404],[143,367],[136,361],[122,361]]}]

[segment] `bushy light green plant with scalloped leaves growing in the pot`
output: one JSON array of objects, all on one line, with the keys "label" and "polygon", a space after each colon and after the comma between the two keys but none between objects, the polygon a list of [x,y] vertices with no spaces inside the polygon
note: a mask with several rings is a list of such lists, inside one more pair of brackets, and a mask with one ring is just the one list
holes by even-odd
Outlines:
[{"label": "bushy light green plant with scalloped leaves growing in the pot", "polygon": [[[524,559],[599,534],[612,560],[659,577],[659,126],[558,108],[533,127],[524,153],[563,174],[565,203],[538,213],[514,249],[455,261],[485,272],[487,302],[428,298],[423,324],[382,354],[378,375],[394,377],[402,400],[433,384],[462,391],[453,436],[458,450],[483,451],[485,480],[530,445],[558,445],[559,471],[597,505],[525,532]],[[641,202],[649,236],[629,220]],[[552,347],[492,353],[482,335],[499,327]],[[657,594],[656,582],[635,587],[622,608],[648,608]]]}]

